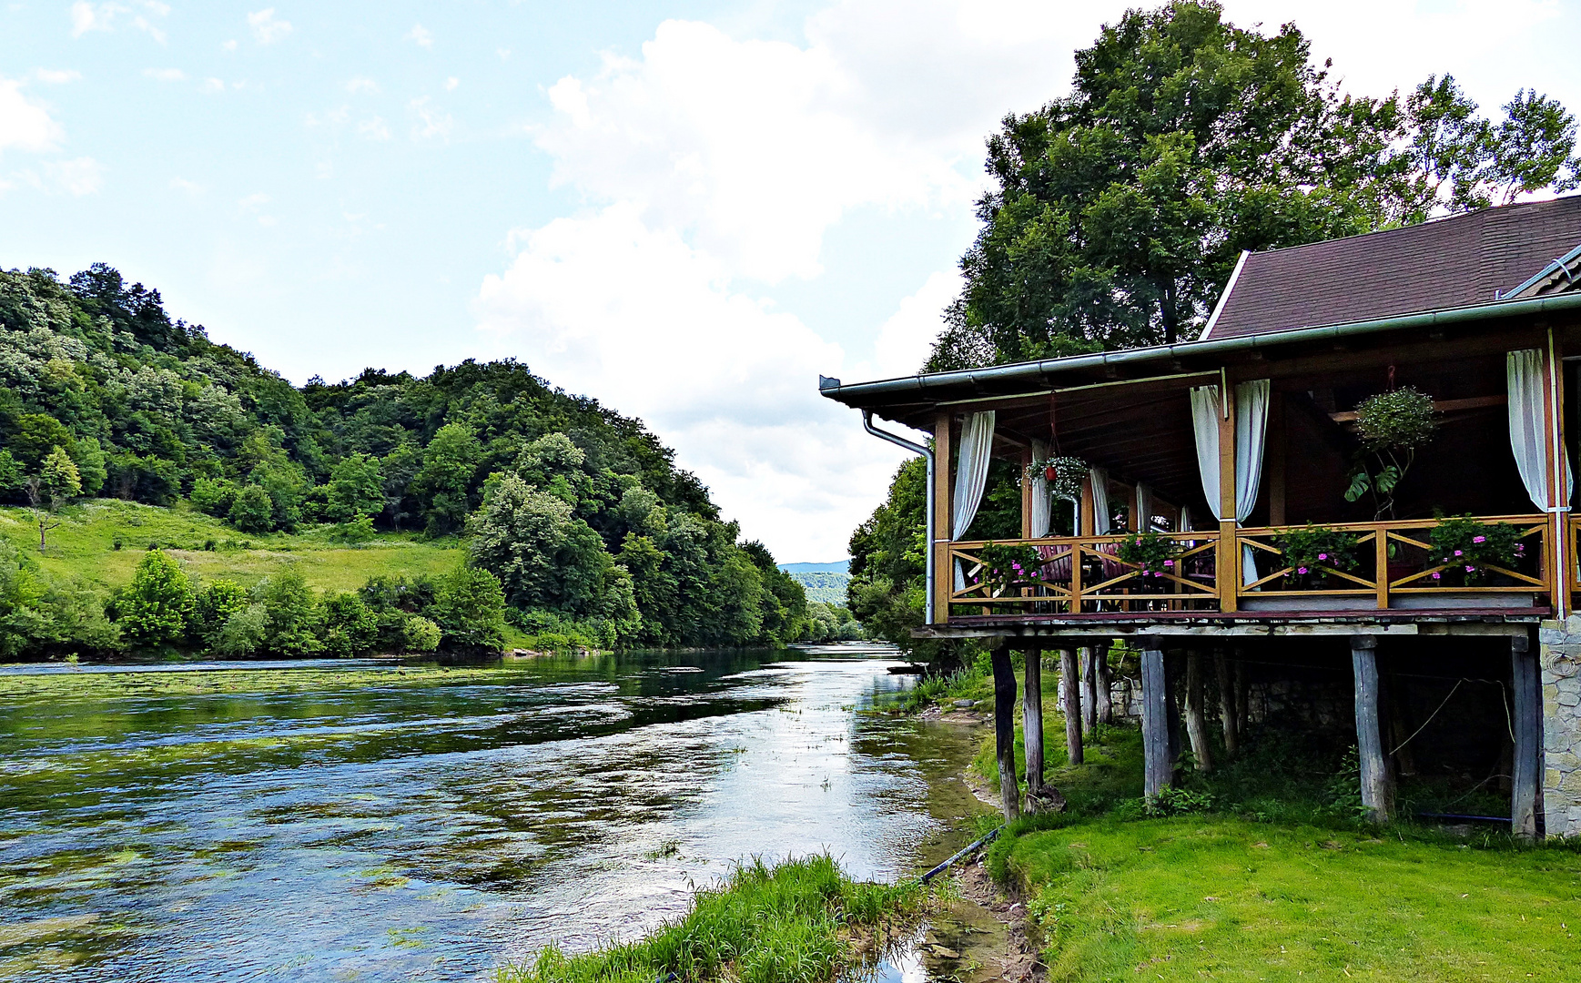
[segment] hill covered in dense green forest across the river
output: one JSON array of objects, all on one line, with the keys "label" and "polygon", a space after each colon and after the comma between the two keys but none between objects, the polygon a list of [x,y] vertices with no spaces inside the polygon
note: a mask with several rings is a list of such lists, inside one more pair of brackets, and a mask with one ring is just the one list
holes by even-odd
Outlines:
[{"label": "hill covered in dense green forest across the river", "polygon": [[462,536],[525,626],[749,645],[806,618],[800,585],[640,420],[515,362],[297,389],[104,264],[0,270],[0,495],[40,510],[188,498],[240,533]]}]

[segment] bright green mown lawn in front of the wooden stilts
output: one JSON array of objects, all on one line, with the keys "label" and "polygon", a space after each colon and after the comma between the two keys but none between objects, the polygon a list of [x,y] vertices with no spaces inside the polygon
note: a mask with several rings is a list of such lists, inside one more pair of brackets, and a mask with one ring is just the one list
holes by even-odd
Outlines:
[{"label": "bright green mown lawn in front of the wooden stilts", "polygon": [[[934,689],[991,700],[980,672]],[[1012,823],[988,866],[1028,899],[1048,980],[1568,980],[1581,961],[1581,850],[1360,823],[1342,754],[1274,730],[1149,815],[1134,729],[1070,766],[1045,714],[1070,808]],[[996,787],[991,732],[972,771]]]}]

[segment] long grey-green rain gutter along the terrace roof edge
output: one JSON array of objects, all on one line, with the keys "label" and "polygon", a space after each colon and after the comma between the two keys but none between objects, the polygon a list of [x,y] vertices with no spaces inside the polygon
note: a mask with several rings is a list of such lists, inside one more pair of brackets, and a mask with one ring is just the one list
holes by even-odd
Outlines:
[{"label": "long grey-green rain gutter along the terrace roof edge", "polygon": [[[1581,294],[1559,294],[1556,297],[1530,297],[1526,300],[1497,300],[1494,303],[1477,303],[1472,307],[1451,307],[1418,314],[1398,314],[1393,318],[1374,318],[1371,321],[1352,321],[1347,324],[1328,324],[1322,327],[1298,327],[1293,330],[1258,332],[1252,335],[1236,335],[1233,338],[1217,338],[1211,341],[1187,341],[1183,345],[1159,345],[1154,348],[1132,348],[1127,351],[1105,351],[1091,356],[1070,356],[1067,359],[1043,359],[1039,362],[1017,362],[1013,365],[993,365],[988,368],[968,368],[958,371],[939,371],[931,375],[904,376],[900,379],[881,379],[876,382],[852,382],[843,386],[838,379],[819,378],[819,395],[832,400],[866,400],[874,397],[895,397],[906,394],[925,395],[930,390],[949,389],[952,386],[983,386],[1020,381],[1040,381],[1048,386],[1050,375],[1062,371],[1080,371],[1086,368],[1110,368],[1145,365],[1189,357],[1228,356],[1257,348],[1277,345],[1298,345],[1303,341],[1331,341],[1353,335],[1368,335],[1387,330],[1404,330],[1413,327],[1442,327],[1450,324],[1466,324],[1470,321],[1488,321],[1494,318],[1521,318],[1532,314],[1549,314],[1581,308]],[[996,394],[998,395],[998,394]]]}]

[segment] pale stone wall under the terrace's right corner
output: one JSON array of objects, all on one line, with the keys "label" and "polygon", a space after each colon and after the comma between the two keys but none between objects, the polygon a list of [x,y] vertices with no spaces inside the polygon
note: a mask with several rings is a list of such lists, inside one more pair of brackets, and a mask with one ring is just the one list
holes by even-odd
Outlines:
[{"label": "pale stone wall under the terrace's right corner", "polygon": [[1548,836],[1581,836],[1581,615],[1545,621],[1543,822]]}]

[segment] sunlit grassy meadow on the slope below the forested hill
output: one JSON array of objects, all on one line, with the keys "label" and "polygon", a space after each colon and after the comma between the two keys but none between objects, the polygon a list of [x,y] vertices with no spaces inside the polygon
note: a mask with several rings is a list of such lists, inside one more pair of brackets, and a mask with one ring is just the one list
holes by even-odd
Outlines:
[{"label": "sunlit grassy meadow on the slope below the forested hill", "polygon": [[[49,531],[49,548],[41,556],[38,523],[30,509],[0,509],[0,536],[38,556],[46,572],[108,589],[131,582],[149,544],[158,544],[201,580],[228,577],[251,586],[269,574],[294,567],[324,591],[351,591],[379,574],[438,575],[463,558],[457,539],[428,540],[414,533],[381,533],[356,547],[332,540],[329,526],[310,526],[297,534],[243,534],[185,501],[161,509],[100,498],[63,509],[52,522],[60,525]],[[213,548],[204,548],[210,542]]]}]

